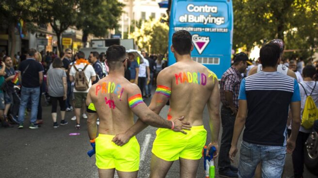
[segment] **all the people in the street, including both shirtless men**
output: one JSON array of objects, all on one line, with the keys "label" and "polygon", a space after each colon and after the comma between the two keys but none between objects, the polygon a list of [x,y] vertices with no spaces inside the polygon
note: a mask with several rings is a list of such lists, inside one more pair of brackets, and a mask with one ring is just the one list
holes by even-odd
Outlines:
[{"label": "all the people in the street, including both shirtless men", "polygon": [[[294,177],[302,178],[305,141],[313,130],[318,132],[318,120],[309,129],[301,125],[307,96],[318,105],[317,66],[284,59],[284,42],[274,39],[261,48],[256,63],[243,52],[236,54],[219,85],[212,71],[191,59],[191,39],[185,30],[175,32],[172,51],[177,62],[170,67],[161,55],[141,51],[140,58],[120,45],[112,45],[106,53],[92,51],[89,56],[65,49],[61,58],[29,49],[13,60],[4,51],[0,54],[1,125],[16,123],[22,129],[25,114],[31,111],[29,128],[37,129],[43,124],[43,96],[51,103],[54,128],[68,124],[65,111],[74,110],[76,129],[80,129],[81,117],[87,119],[100,177],[112,177],[115,169],[120,176],[137,177],[135,135],[147,125],[160,128],[150,176],[165,177],[171,164],[180,160],[180,175],[195,177],[207,139],[203,128],[207,104],[211,129],[207,149],[217,149],[214,156],[219,156],[220,176],[280,178],[287,152],[292,153]],[[157,86],[155,92],[153,86]],[[152,97],[149,107],[143,103],[147,97]],[[159,112],[168,101],[167,119],[162,119]],[[139,117],[135,124],[131,113]],[[235,167],[231,162],[244,127],[239,167]],[[111,147],[104,147],[105,143]],[[109,151],[114,154],[106,154]]]}]

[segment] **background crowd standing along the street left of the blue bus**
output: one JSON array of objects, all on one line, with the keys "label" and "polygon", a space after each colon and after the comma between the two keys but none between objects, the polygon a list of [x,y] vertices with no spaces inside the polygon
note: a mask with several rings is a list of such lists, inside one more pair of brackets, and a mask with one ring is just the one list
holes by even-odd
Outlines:
[{"label": "background crowd standing along the street left of the blue bus", "polygon": [[[128,53],[128,68],[125,73],[127,80],[137,84],[143,91],[143,98],[151,96],[152,86],[159,72],[167,66],[163,55],[151,55],[141,52],[143,58],[136,53]],[[87,89],[79,91],[74,88],[76,72],[84,71],[88,88],[105,77],[109,72],[105,53],[92,51],[89,56],[81,51],[74,53],[65,49],[60,57],[53,52],[37,52],[29,49],[22,54],[18,52],[14,59],[7,56],[6,51],[0,53],[0,120],[3,127],[23,128],[25,115],[30,112],[30,129],[36,129],[43,124],[42,97],[52,105],[53,127],[66,125],[65,111],[74,111],[76,128],[80,128],[80,117],[87,119],[85,104]],[[87,65],[87,68],[84,67]],[[74,67],[73,67],[74,66]],[[24,79],[23,79],[24,78]],[[3,95],[3,96],[2,96]],[[58,102],[61,110],[61,122],[57,122]],[[2,109],[3,108],[3,109]]]}]

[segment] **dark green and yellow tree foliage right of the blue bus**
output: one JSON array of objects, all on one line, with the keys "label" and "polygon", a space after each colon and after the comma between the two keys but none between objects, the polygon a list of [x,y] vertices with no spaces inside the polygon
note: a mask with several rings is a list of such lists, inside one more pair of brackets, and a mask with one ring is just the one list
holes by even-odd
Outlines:
[{"label": "dark green and yellow tree foliage right of the blue bus", "polygon": [[[286,42],[286,49],[317,48],[317,0],[233,0],[233,47],[262,45],[271,39]],[[288,55],[288,54],[287,54]],[[308,56],[308,55],[307,55]]]}]

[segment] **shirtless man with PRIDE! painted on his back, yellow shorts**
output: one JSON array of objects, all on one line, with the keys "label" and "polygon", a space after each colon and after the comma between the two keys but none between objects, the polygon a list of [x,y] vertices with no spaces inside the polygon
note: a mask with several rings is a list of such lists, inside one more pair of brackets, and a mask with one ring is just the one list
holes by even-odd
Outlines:
[{"label": "shirtless man with PRIDE! painted on his back, yellow shorts", "polygon": [[[140,147],[136,137],[123,147],[112,142],[114,135],[127,131],[133,124],[133,114],[154,127],[185,132],[190,123],[183,117],[166,120],[148,109],[143,103],[141,91],[136,84],[125,77],[127,69],[126,49],[112,45],[106,52],[109,75],[99,80],[87,94],[87,127],[90,142],[96,152],[96,166],[99,178],[111,178],[115,170],[120,178],[137,178]],[[96,120],[99,117],[97,136]]]}]

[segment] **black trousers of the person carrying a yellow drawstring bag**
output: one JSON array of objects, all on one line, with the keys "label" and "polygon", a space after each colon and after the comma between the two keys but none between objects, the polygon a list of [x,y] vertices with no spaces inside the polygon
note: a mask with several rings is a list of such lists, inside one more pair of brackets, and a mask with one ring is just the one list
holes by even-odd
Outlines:
[{"label": "black trousers of the person carrying a yellow drawstring bag", "polygon": [[[287,130],[288,136],[291,134],[291,130]],[[310,133],[303,133],[298,132],[297,139],[296,139],[296,147],[291,155],[293,160],[293,168],[294,168],[294,178],[302,178],[303,173],[303,163],[304,163],[304,146],[305,142]]]}]

